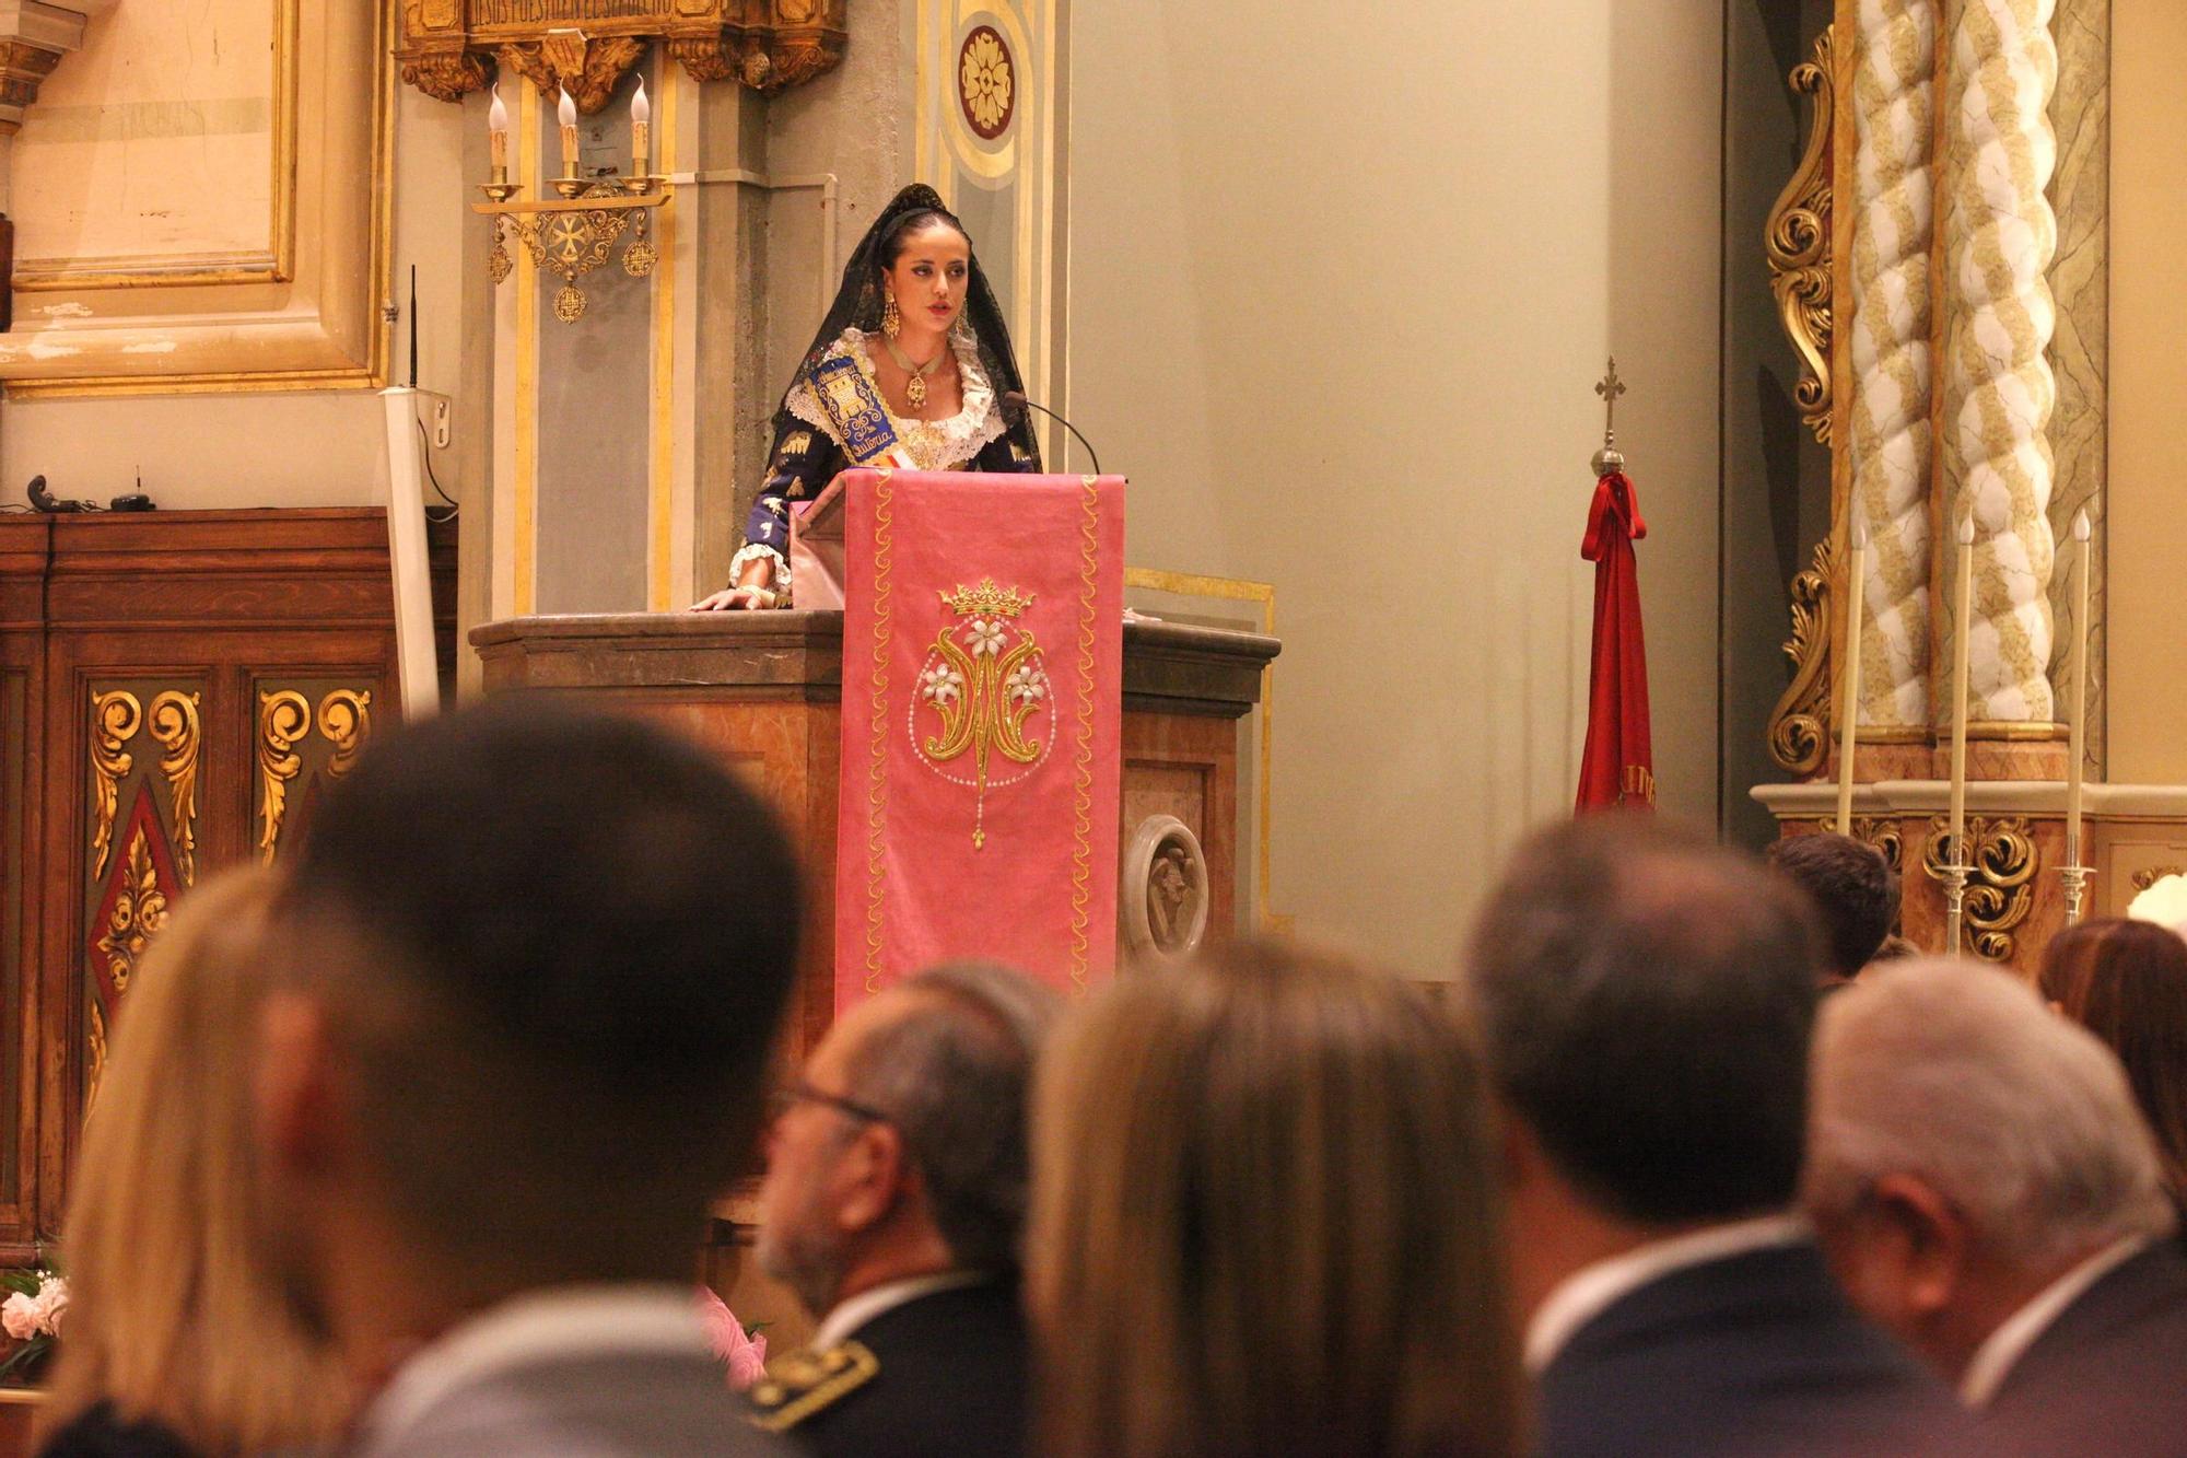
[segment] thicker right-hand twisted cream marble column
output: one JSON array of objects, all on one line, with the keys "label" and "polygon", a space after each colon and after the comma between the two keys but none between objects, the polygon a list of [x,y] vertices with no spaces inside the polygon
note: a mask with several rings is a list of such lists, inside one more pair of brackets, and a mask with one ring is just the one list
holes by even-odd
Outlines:
[{"label": "thicker right-hand twisted cream marble column", "polygon": [[1946,517],[1968,506],[1975,512],[1975,604],[1964,628],[1973,633],[1968,692],[1977,720],[2051,718],[2051,9],[2054,0],[1951,7],[1942,429],[1953,488]]}]

